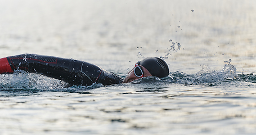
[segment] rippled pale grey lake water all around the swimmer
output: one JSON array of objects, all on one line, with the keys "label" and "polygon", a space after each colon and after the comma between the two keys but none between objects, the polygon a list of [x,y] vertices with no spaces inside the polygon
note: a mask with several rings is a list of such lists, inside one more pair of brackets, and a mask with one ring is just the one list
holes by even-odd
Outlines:
[{"label": "rippled pale grey lake water all around the swimmer", "polygon": [[125,78],[161,57],[166,78],[64,88],[0,75],[0,134],[255,134],[256,1],[3,1],[0,57],[91,62]]}]

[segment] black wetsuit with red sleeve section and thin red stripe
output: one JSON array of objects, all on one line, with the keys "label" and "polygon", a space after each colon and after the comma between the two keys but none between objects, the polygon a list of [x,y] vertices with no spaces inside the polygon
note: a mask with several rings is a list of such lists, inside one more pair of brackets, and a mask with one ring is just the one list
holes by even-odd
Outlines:
[{"label": "black wetsuit with red sleeve section and thin red stripe", "polygon": [[71,86],[90,86],[93,83],[105,86],[123,82],[116,74],[84,61],[34,54],[0,59],[0,74],[13,73],[17,69],[64,80]]}]

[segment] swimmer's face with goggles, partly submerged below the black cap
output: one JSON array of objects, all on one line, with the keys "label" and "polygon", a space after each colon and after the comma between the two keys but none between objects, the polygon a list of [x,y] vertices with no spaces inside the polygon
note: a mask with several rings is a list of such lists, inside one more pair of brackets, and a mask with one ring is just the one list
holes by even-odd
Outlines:
[{"label": "swimmer's face with goggles, partly submerged below the black cap", "polygon": [[[152,75],[149,73],[149,71],[146,68],[144,68],[143,66],[140,66],[140,67],[143,70],[144,77],[152,77]],[[141,77],[136,77],[136,75],[134,74],[134,68],[131,71],[129,71],[123,83],[129,83],[129,82],[132,82],[133,80],[137,80],[141,78]]]}]

